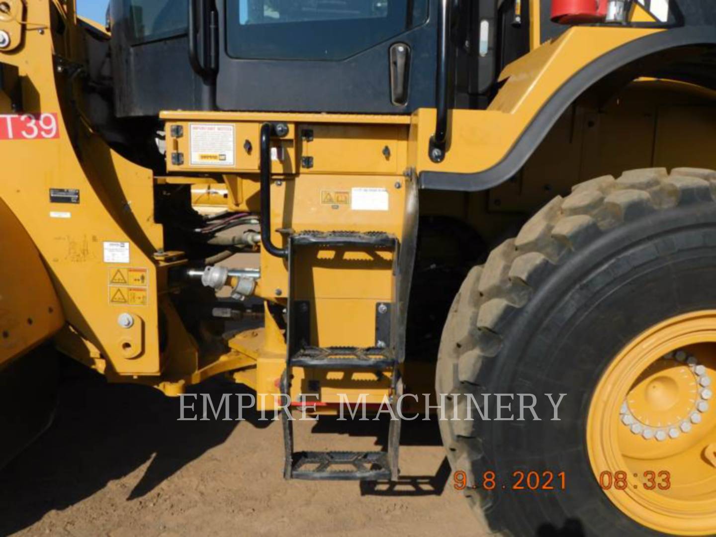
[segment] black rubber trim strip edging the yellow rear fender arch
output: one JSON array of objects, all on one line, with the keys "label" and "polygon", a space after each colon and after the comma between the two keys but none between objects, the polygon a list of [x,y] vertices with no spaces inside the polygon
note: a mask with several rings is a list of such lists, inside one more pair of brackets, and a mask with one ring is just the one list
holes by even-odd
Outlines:
[{"label": "black rubber trim strip edging the yellow rear fender arch", "polygon": [[671,29],[636,39],[607,52],[574,74],[569,82],[550,97],[500,163],[476,173],[425,171],[420,173],[420,188],[479,192],[504,183],[518,173],[558,118],[592,84],[616,69],[654,52],[702,44],[716,44],[716,26],[684,26]]}]

